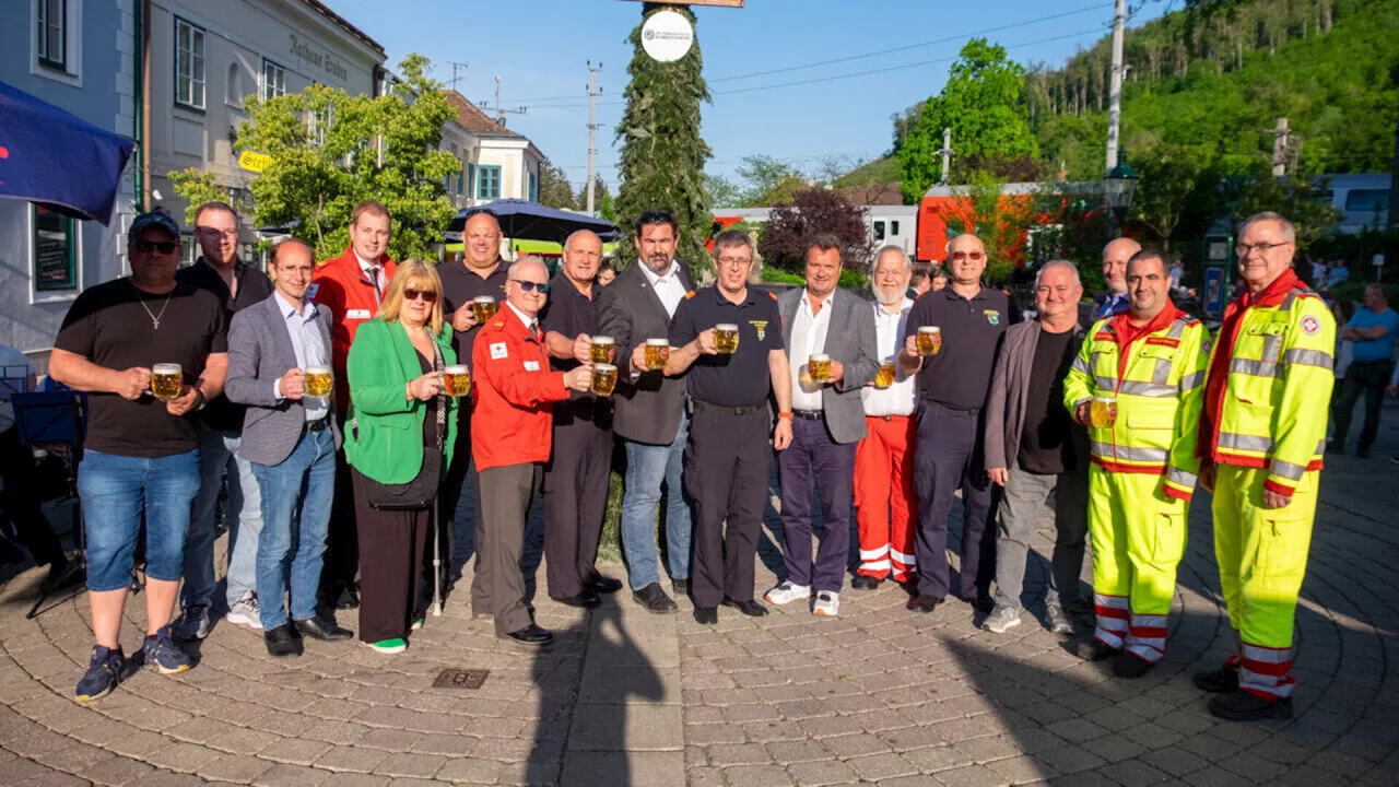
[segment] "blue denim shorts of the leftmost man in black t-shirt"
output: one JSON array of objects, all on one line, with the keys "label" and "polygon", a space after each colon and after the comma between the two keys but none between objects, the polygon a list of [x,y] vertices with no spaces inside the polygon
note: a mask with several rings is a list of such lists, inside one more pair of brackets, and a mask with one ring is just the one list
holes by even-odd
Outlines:
[{"label": "blue denim shorts of the leftmost man in black t-shirt", "polygon": [[178,583],[185,569],[189,504],[199,492],[199,450],[157,459],[83,454],[78,497],[87,528],[87,587],[132,584],[136,538],[145,515],[145,576]]}]

